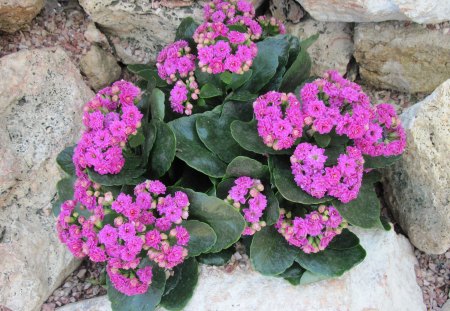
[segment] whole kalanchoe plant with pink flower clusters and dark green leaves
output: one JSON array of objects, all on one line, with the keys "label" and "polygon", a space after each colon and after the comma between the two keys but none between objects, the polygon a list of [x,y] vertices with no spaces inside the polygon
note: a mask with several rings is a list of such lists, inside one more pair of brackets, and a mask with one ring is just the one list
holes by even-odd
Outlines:
[{"label": "whole kalanchoe plant with pink flower clusters and dark green leaves", "polygon": [[365,251],[349,228],[388,228],[374,191],[406,147],[388,104],[336,71],[310,77],[308,47],[244,0],[183,20],[156,65],[130,65],[84,108],[57,158],[63,243],[106,265],[113,310],[181,310],[198,262],[240,240],[253,267],[304,284]]}]

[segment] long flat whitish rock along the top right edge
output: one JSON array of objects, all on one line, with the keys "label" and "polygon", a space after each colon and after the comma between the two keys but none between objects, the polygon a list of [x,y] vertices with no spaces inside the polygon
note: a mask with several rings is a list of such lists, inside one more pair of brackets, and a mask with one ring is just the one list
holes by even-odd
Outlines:
[{"label": "long flat whitish rock along the top right edge", "polygon": [[314,19],[325,22],[411,20],[434,24],[450,20],[450,2],[439,0],[296,0]]}]

